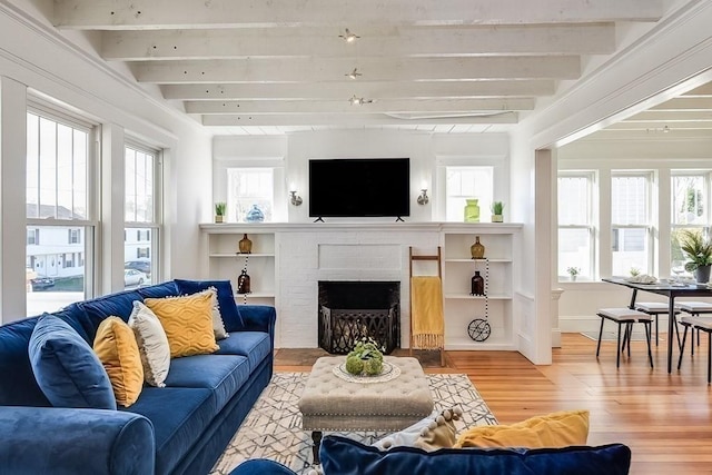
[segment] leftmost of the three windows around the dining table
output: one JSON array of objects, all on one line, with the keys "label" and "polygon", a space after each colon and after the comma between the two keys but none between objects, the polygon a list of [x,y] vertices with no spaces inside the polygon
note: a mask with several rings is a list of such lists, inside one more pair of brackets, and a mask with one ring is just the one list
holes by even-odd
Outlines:
[{"label": "leftmost of the three windows around the dining table", "polygon": [[595,277],[593,171],[558,174],[558,265],[561,280],[575,275],[582,280]]}]

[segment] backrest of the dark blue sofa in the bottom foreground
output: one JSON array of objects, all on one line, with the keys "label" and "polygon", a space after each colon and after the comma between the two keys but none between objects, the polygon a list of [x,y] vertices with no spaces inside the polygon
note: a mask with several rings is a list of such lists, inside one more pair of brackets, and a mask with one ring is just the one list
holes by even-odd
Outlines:
[{"label": "backrest of the dark blue sofa in the bottom foreground", "polygon": [[324,475],[625,475],[631,451],[623,444],[565,448],[442,448],[424,452],[395,447],[380,452],[328,435],[319,451]]}]

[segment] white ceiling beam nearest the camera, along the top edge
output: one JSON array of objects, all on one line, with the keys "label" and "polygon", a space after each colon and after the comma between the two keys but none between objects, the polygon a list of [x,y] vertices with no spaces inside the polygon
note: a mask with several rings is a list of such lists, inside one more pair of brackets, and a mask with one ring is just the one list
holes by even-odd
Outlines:
[{"label": "white ceiling beam nearest the camera, along the top edge", "polygon": [[73,29],[181,29],[358,24],[525,24],[656,21],[663,0],[56,0],[53,23]]}]

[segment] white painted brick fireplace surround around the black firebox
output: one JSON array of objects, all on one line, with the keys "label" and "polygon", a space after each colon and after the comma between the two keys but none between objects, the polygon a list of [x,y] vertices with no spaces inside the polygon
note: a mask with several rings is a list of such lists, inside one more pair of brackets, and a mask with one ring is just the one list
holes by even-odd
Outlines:
[{"label": "white painted brick fireplace surround around the black firebox", "polygon": [[[319,280],[400,281],[400,344],[409,335],[408,246],[435,254],[436,224],[314,224],[305,230],[277,232],[277,346],[316,348]],[[424,274],[434,263],[415,263]],[[432,269],[427,266],[433,266]]]}]

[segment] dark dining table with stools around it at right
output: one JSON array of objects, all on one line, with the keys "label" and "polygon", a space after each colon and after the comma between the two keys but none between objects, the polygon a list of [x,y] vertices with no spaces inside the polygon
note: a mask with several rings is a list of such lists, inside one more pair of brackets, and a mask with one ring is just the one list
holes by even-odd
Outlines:
[{"label": "dark dining table with stools around it at right", "polygon": [[675,298],[679,297],[712,297],[712,287],[708,284],[698,284],[690,281],[673,280],[655,280],[652,283],[634,281],[634,278],[625,277],[606,277],[602,279],[605,283],[622,285],[633,289],[631,304],[629,308],[635,308],[635,299],[637,291],[647,291],[651,294],[664,295],[668,297],[668,374],[672,373],[672,335],[675,329]]}]

